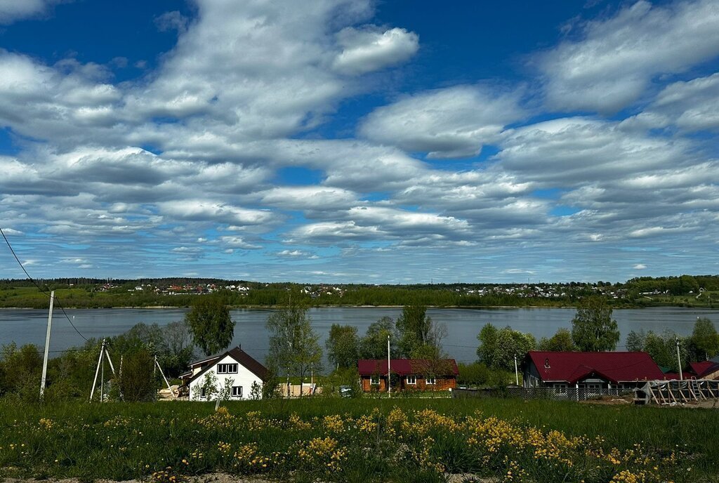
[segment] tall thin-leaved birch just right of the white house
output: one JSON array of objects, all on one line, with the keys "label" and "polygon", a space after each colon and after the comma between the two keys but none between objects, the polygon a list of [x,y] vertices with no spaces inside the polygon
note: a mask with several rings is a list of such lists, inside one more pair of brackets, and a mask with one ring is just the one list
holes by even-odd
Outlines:
[{"label": "tall thin-leaved birch just right of the white house", "polygon": [[286,305],[267,317],[266,326],[270,332],[267,364],[275,374],[285,371],[288,386],[290,376],[299,376],[301,391],[304,377],[311,369],[319,372],[322,361],[319,337],[312,328],[307,308]]}]

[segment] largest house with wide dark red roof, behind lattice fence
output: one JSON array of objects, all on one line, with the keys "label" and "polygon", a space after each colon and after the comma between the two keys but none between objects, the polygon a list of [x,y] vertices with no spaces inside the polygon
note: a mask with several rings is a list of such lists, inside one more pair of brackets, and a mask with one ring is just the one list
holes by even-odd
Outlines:
[{"label": "largest house with wide dark red roof, behind lattice fence", "polygon": [[646,352],[530,351],[523,364],[524,387],[623,390],[663,380],[664,374]]}]

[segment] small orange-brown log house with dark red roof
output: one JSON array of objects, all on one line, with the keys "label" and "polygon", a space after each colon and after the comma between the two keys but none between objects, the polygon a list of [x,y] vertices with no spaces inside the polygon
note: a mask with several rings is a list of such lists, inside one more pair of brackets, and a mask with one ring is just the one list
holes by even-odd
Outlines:
[{"label": "small orange-brown log house with dark red roof", "polygon": [[[387,359],[360,359],[357,363],[362,390],[387,390]],[[457,387],[457,362],[454,359],[390,360],[392,390],[439,391]]]}]

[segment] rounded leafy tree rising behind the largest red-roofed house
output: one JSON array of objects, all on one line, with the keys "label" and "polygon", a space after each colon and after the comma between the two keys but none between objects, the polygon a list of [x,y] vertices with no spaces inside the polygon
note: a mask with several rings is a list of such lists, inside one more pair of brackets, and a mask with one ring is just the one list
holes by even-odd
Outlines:
[{"label": "rounded leafy tree rising behind the largest red-roofed house", "polygon": [[572,319],[572,341],[580,351],[613,351],[619,341],[617,321],[612,308],[602,297],[580,300],[577,315]]}]

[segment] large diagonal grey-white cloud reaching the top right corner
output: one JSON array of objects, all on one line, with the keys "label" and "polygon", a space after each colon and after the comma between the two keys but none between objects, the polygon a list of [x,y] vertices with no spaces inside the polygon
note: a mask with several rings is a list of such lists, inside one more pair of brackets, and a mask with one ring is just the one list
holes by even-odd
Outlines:
[{"label": "large diagonal grey-white cloud reaching the top right corner", "polygon": [[539,59],[546,102],[555,109],[612,113],[643,96],[656,75],[684,72],[719,55],[713,0],[666,6],[641,0],[579,27],[579,39]]}]

